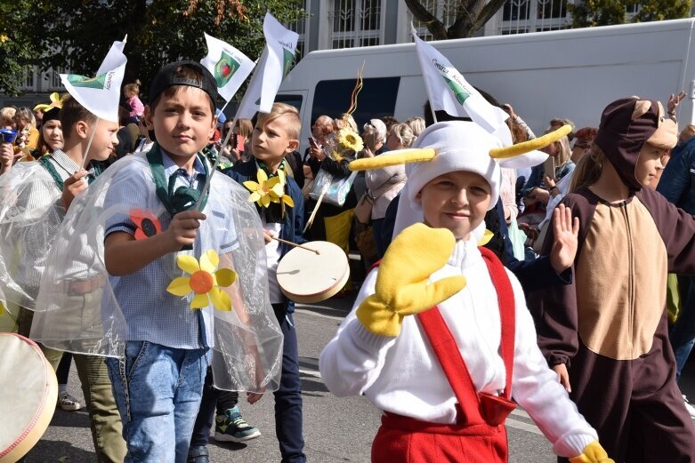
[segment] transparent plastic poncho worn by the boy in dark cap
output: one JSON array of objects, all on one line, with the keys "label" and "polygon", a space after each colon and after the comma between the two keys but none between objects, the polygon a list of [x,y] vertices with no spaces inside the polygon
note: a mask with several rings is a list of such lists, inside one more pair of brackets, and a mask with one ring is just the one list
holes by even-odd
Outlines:
[{"label": "transparent plastic poncho worn by the boy in dark cap", "polygon": [[[104,263],[105,228],[114,220],[133,226],[133,222],[129,222],[133,211],[139,210],[142,214],[146,204],[130,204],[127,197],[113,203],[108,200],[109,188],[144,188],[147,197],[157,198],[150,164],[144,156],[133,155],[111,165],[86,194],[77,196],[71,204],[46,259],[36,299],[31,338],[47,347],[87,355],[125,355],[129,329],[114,291],[120,279],[109,276]],[[214,174],[210,196],[223,198],[226,216],[225,220],[214,220],[210,201],[207,202],[203,210],[206,220],[198,233],[203,227],[213,228],[209,233],[213,243],[208,241],[206,249],[194,245],[192,251],[173,252],[160,258],[166,262],[166,278],[162,279],[165,283],[144,291],[160,291],[158,294],[166,291],[167,283],[186,275],[177,266],[178,256],[189,255],[199,260],[209,249],[219,251],[217,248],[222,243],[215,242],[216,237],[225,235],[227,228],[234,228],[238,245],[220,256],[219,266],[230,267],[237,273],[238,278],[230,289],[240,295],[241,300],[237,299],[230,311],[215,309],[212,304],[196,309],[214,315],[214,386],[251,392],[276,390],[282,360],[282,332],[268,298],[261,220],[254,205],[247,201],[246,188],[220,172]],[[159,219],[169,217],[156,199],[151,204],[158,206],[144,211],[146,215]],[[178,298],[190,305],[193,296],[190,293]],[[143,306],[146,305],[143,303]],[[166,331],[166,327],[162,329]]]}]

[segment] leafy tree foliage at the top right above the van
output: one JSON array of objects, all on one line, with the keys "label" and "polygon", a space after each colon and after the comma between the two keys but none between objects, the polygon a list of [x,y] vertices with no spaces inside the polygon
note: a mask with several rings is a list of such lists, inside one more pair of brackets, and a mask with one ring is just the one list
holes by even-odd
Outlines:
[{"label": "leafy tree foliage at the top right above the van", "polygon": [[593,28],[626,23],[628,9],[638,10],[632,22],[687,18],[691,0],[584,0],[567,6],[573,28]]}]

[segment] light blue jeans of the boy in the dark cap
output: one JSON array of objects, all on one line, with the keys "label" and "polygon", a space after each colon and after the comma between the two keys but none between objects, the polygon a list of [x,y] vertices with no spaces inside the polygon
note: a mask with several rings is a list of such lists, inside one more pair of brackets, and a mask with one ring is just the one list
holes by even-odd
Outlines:
[{"label": "light blue jeans of the boy in the dark cap", "polygon": [[185,463],[209,361],[206,348],[148,341],[128,341],[124,359],[107,359],[126,462]]}]

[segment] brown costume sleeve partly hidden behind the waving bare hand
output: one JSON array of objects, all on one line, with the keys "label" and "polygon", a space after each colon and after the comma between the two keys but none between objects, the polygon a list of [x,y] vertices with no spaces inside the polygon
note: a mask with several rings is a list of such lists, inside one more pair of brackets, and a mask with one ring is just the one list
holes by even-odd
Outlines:
[{"label": "brown costume sleeve partly hidden behind the waving bare hand", "polygon": [[[585,195],[583,193],[588,193]],[[565,196],[561,204],[572,211],[573,217],[579,219],[578,250],[575,263],[579,259],[586,230],[594,215],[595,200],[588,190]],[[593,196],[595,198],[595,196]],[[554,231],[552,224],[548,228],[543,243],[542,255],[549,255],[553,248]],[[555,284],[529,295],[529,310],[536,322],[538,347],[550,366],[567,363],[577,354],[577,292],[575,281],[570,284]]]}]

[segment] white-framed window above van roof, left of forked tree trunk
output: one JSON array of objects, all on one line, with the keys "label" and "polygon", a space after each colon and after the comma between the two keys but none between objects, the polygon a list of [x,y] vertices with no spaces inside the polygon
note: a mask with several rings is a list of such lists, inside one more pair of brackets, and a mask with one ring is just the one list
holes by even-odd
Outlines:
[{"label": "white-framed window above van roof, left of forked tree trunk", "polygon": [[329,18],[331,48],[378,45],[381,42],[381,0],[333,0]]}]

